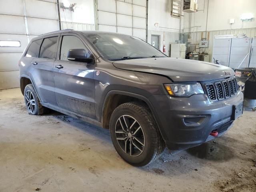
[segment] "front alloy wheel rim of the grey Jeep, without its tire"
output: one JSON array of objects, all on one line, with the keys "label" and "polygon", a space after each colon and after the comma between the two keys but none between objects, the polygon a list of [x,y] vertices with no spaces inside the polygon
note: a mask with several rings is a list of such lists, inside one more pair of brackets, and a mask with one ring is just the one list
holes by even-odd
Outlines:
[{"label": "front alloy wheel rim of the grey Jeep, without its tire", "polygon": [[130,156],[139,156],[144,151],[145,136],[139,122],[132,116],[123,115],[116,121],[116,140]]}]

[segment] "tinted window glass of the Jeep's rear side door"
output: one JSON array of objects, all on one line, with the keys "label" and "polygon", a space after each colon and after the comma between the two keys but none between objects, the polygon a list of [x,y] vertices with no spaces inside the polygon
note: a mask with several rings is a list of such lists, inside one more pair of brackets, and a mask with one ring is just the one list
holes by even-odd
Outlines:
[{"label": "tinted window glass of the Jeep's rear side door", "polygon": [[40,58],[55,59],[58,37],[45,38],[40,48]]}]

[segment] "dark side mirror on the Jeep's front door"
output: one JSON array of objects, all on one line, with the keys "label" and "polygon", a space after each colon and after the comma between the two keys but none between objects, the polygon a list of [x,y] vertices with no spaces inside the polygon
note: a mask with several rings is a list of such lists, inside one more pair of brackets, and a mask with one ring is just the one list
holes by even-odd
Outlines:
[{"label": "dark side mirror on the Jeep's front door", "polygon": [[70,61],[77,61],[77,62],[84,62],[91,64],[93,62],[93,58],[91,58],[91,55],[88,55],[90,53],[86,52],[85,49],[70,49],[68,51],[68,60]]}]

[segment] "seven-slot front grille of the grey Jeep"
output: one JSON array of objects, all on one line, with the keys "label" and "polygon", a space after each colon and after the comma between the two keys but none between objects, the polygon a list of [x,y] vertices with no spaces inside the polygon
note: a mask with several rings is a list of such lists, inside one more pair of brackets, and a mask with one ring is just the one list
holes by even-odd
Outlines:
[{"label": "seven-slot front grille of the grey Jeep", "polygon": [[211,102],[234,96],[238,92],[236,78],[204,84],[204,88]]}]

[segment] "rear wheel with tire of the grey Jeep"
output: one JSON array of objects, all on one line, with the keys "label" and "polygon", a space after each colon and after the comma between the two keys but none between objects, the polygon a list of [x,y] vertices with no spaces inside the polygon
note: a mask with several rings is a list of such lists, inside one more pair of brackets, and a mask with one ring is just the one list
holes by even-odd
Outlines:
[{"label": "rear wheel with tire of the grey Jeep", "polygon": [[50,109],[42,106],[37,97],[36,91],[32,84],[28,84],[24,89],[24,100],[28,114],[42,115],[50,111]]}]

